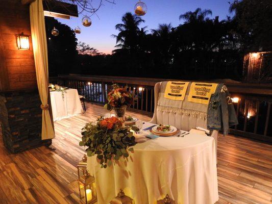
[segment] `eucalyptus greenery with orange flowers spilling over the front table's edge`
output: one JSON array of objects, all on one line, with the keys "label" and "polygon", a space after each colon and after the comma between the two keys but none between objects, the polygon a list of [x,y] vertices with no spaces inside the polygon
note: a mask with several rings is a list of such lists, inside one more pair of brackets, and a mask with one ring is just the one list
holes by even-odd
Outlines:
[{"label": "eucalyptus greenery with orange flowers spilling over the front table's edge", "polygon": [[[136,126],[131,127],[139,131]],[[129,157],[129,151],[137,142],[130,131],[129,126],[122,127],[121,121],[116,117],[98,118],[96,122],[90,122],[82,129],[82,141],[80,146],[86,146],[89,157],[96,158],[101,168],[106,168],[121,157]]]}]

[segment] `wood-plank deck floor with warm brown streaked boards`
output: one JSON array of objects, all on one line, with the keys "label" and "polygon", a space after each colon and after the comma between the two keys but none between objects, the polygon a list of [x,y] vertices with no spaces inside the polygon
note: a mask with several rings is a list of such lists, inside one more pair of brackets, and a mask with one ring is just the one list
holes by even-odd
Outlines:
[{"label": "wood-plank deck floor with warm brown streaked boards", "polygon": [[[105,113],[101,106],[87,104],[84,115],[55,122],[51,148],[12,155],[1,140],[0,203],[79,203],[76,165],[84,154],[78,145],[81,128]],[[272,203],[272,145],[220,136],[217,170],[217,203]]]}]

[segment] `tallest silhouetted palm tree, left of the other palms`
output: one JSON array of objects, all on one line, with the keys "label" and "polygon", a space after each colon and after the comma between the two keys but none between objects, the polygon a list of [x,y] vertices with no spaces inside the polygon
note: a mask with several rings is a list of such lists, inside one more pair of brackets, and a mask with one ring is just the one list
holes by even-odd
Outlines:
[{"label": "tallest silhouetted palm tree, left of the other palms", "polygon": [[128,12],[122,17],[122,23],[115,25],[115,29],[119,31],[118,35],[112,35],[116,38],[116,45],[119,49],[115,49],[117,52],[120,49],[136,50],[138,46],[138,36],[143,34],[146,27],[142,30],[139,29],[140,23],[144,22],[141,17],[133,15]]}]

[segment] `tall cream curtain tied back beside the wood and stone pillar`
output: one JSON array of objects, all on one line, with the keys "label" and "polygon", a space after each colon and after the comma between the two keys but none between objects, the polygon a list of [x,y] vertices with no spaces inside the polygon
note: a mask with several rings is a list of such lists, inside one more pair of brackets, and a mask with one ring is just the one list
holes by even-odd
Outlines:
[{"label": "tall cream curtain tied back beside the wood and stone pillar", "polygon": [[30,24],[37,84],[41,98],[41,139],[52,139],[55,137],[55,132],[48,110],[48,58],[42,0],[36,0],[30,4]]}]

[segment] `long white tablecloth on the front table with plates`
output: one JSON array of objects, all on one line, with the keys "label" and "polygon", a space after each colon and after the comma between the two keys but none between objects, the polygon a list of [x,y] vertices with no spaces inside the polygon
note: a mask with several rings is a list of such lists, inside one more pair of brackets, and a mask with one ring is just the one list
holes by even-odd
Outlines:
[{"label": "long white tablecloth on the front table with plates", "polygon": [[[145,127],[151,126],[145,123]],[[176,203],[209,204],[218,200],[215,142],[212,137],[147,139],[130,157],[101,169],[96,156],[87,160],[95,176],[99,204],[109,203],[119,189],[135,204],[155,204],[167,193]]]}]

